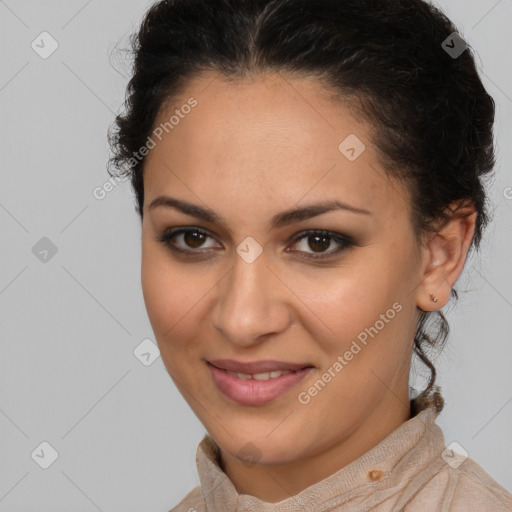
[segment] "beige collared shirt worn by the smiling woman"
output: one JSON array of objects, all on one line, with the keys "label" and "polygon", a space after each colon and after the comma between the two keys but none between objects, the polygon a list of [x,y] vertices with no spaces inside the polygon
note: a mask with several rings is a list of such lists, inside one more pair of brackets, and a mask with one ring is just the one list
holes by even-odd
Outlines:
[{"label": "beige collared shirt worn by the smiling woman", "polygon": [[278,503],[239,494],[207,434],[197,448],[201,482],[170,512],[501,512],[512,495],[476,462],[446,449],[429,405],[371,450]]}]

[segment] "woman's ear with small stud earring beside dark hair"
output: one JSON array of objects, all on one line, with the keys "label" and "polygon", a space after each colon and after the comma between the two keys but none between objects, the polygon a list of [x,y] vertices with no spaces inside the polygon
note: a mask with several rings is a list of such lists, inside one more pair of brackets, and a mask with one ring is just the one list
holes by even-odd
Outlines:
[{"label": "woman's ear with small stud earring beside dark hair", "polygon": [[450,218],[430,235],[421,249],[423,265],[416,306],[423,311],[441,309],[450,300],[451,289],[464,268],[475,233],[477,213],[471,201],[457,201],[446,211]]}]

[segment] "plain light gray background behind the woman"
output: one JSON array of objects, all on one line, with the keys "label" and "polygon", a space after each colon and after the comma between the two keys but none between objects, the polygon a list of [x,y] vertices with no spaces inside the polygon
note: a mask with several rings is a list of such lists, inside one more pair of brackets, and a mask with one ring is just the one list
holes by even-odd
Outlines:
[{"label": "plain light gray background behind the woman", "polygon": [[[512,0],[437,3],[498,107],[494,224],[445,308],[438,422],[512,490]],[[165,512],[198,484],[204,429],[161,359],[134,355],[153,340],[134,198],[127,183],[93,194],[129,72],[109,54],[150,4],[0,1],[0,512]],[[46,59],[31,47],[43,31],[59,45]],[[43,237],[57,249],[46,262]],[[47,469],[43,441],[58,452]]]}]

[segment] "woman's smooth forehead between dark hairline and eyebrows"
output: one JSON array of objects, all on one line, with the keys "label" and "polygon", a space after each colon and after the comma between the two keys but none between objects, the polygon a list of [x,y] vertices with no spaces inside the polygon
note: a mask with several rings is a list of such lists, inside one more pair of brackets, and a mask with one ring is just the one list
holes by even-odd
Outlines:
[{"label": "woman's smooth forehead between dark hairline and eyebrows", "polygon": [[[190,98],[195,106],[183,108]],[[146,204],[185,184],[208,204],[237,195],[260,212],[269,201],[284,209],[301,199],[339,198],[403,213],[405,188],[385,174],[373,127],[352,112],[310,78],[268,74],[228,82],[204,73],[156,120],[155,127],[164,126],[174,116],[172,129],[168,123],[161,140],[153,137]]]}]

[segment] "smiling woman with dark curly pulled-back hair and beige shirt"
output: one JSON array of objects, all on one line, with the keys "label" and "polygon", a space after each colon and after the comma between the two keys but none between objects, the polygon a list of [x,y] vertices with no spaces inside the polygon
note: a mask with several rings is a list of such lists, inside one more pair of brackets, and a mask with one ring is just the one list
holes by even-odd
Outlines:
[{"label": "smiling woman with dark curly pulled-back hair and beige shirt", "polygon": [[208,431],[172,510],[511,510],[435,423],[428,349],[494,166],[454,25],[421,0],[162,1],[134,50],[112,163],[163,362]]}]

